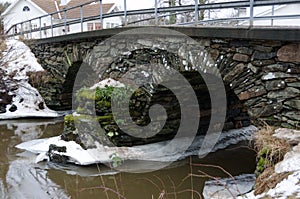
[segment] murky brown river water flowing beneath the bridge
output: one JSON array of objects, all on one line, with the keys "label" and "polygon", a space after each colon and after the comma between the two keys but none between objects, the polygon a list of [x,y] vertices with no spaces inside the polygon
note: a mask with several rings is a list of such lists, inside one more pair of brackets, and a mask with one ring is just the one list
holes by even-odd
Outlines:
[{"label": "murky brown river water flowing beneath the bridge", "polygon": [[190,157],[150,173],[116,173],[103,165],[36,164],[34,154],[15,148],[24,141],[59,135],[62,130],[61,119],[0,121],[0,199],[200,198],[208,176],[228,177],[221,169],[203,164],[219,165],[232,175],[255,169],[255,153],[245,146],[232,146],[201,160]]}]

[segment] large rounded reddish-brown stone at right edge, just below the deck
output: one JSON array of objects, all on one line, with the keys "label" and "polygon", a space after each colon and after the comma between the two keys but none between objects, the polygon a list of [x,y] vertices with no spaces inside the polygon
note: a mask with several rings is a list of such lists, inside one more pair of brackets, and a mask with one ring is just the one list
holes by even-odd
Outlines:
[{"label": "large rounded reddish-brown stone at right edge, just below the deck", "polygon": [[300,62],[300,44],[288,44],[281,47],[277,52],[279,61]]}]

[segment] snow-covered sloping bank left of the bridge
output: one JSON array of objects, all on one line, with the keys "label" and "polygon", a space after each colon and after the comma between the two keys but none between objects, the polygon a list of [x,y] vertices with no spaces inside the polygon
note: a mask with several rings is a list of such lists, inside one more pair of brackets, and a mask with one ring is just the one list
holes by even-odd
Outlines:
[{"label": "snow-covered sloping bank left of the bridge", "polygon": [[1,69],[6,74],[4,80],[8,88],[17,89],[10,90],[9,95],[14,96],[12,103],[6,106],[6,112],[0,114],[0,119],[59,116],[46,106],[37,89],[28,83],[28,72],[44,70],[29,47],[15,39],[6,40],[6,45]]}]

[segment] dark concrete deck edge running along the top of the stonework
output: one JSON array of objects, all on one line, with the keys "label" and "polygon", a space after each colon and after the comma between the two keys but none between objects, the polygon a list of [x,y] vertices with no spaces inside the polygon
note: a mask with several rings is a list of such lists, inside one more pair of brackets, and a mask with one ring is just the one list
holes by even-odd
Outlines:
[{"label": "dark concrete deck edge running along the top of the stonework", "polygon": [[[157,26],[147,26],[157,28]],[[103,38],[116,35],[126,30],[142,27],[124,27],[114,29],[103,29],[83,33],[75,33],[46,39],[32,40],[35,43],[55,43],[74,40],[88,40],[91,38]],[[210,38],[235,38],[235,39],[259,39],[259,40],[280,40],[280,41],[300,41],[299,27],[182,27],[182,26],[159,26],[178,31],[190,37],[210,37]]]}]

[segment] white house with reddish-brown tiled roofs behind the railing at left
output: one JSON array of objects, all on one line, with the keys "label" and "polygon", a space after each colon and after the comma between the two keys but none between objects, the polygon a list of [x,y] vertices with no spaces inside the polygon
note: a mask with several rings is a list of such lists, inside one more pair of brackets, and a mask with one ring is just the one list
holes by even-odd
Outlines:
[{"label": "white house with reddish-brown tiled roofs behind the railing at left", "polygon": [[[89,1],[86,1],[89,2]],[[2,14],[3,15],[3,23],[4,23],[4,32],[12,34],[12,33],[20,33],[23,31],[37,30],[32,31],[32,33],[28,33],[25,35],[27,38],[46,38],[52,35],[52,31],[42,30],[39,31],[40,27],[50,27],[51,24],[53,26],[57,24],[64,24],[64,21],[72,21],[78,19],[80,21],[81,11],[80,7],[72,10],[68,10],[66,12],[64,9],[68,9],[80,4],[83,4],[82,0],[16,0],[12,3]],[[49,15],[54,12],[61,11],[57,14]],[[118,11],[118,8],[115,4],[102,4],[102,14],[112,13]],[[48,16],[47,16],[48,15]],[[88,4],[82,7],[82,15],[83,17],[93,17],[100,15],[100,3],[95,2]],[[41,16],[42,17],[39,19]],[[38,18],[35,20],[31,20],[28,23],[19,24],[18,26],[11,28],[12,25],[16,23],[20,23],[22,21],[30,20],[33,18]],[[113,17],[103,19],[103,24],[101,24],[100,20],[94,20],[89,22],[83,22],[67,26],[61,26],[53,29],[53,36],[59,36],[64,34],[71,34],[82,31],[92,31],[92,30],[100,30],[102,28],[114,28],[120,26],[122,24],[121,17]],[[31,27],[31,28],[30,28]]]}]

